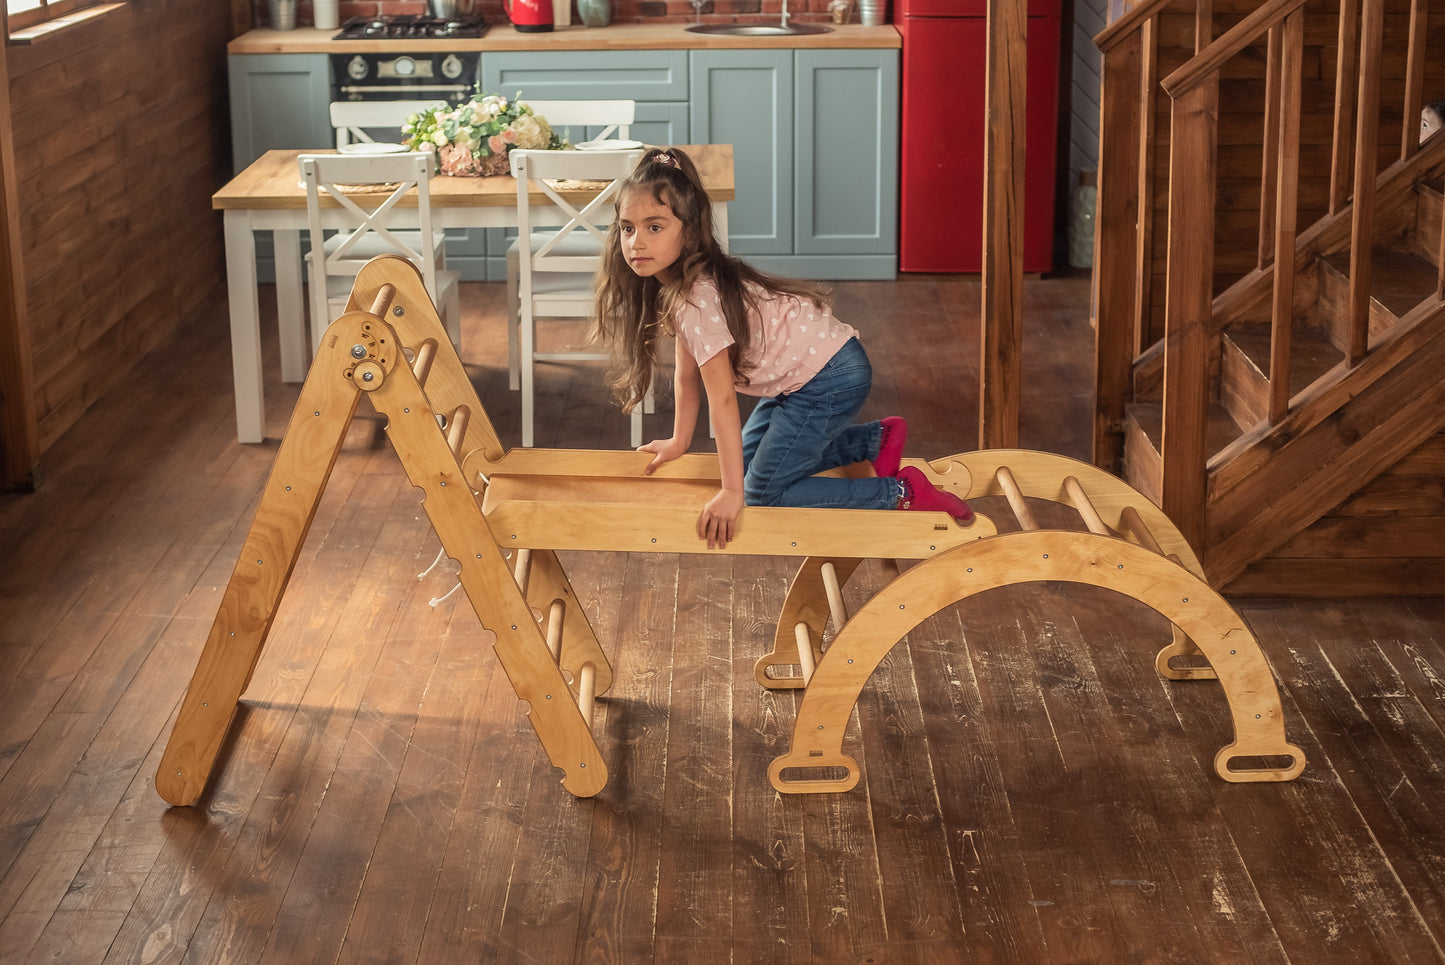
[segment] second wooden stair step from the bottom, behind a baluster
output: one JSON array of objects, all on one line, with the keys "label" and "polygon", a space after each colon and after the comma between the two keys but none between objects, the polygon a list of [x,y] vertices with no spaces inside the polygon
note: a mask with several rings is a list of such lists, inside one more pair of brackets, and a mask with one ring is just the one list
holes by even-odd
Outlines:
[{"label": "second wooden stair step from the bottom, behind a baluster", "polygon": [[[1220,400],[1241,426],[1269,416],[1270,328],[1263,324],[1234,325],[1224,332],[1220,357]],[[1290,329],[1289,394],[1295,396],[1344,358],[1329,337],[1296,322]]]}]

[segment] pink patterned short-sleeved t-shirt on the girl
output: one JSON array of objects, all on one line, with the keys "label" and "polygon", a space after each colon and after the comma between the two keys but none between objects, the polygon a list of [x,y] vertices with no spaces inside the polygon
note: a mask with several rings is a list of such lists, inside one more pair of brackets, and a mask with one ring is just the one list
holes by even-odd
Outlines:
[{"label": "pink patterned short-sleeved t-shirt on the girl", "polygon": [[[751,293],[753,289],[750,289]],[[712,279],[699,279],[686,303],[678,309],[673,328],[701,365],[733,344],[722,305]],[[756,311],[749,312],[753,344],[744,360],[746,396],[785,396],[798,391],[828,364],[857,329],[832,316],[811,299],[760,292]]]}]

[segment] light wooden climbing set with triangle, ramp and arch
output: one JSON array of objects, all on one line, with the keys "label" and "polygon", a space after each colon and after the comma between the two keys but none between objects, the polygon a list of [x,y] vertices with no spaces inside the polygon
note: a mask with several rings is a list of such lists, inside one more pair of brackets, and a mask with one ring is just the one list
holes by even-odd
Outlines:
[{"label": "light wooden climbing set with triangle, ramp and arch", "polygon": [[[416,269],[384,256],[357,276],[347,312],[325,332],[276,454],[241,555],[201,652],[156,774],[173,805],[195,803],[276,617],[292,568],[366,394],[562,784],[591,796],[607,766],[591,731],[613,669],[556,550],[704,553],[701,506],[717,458],[694,454],[644,477],[626,451],[504,449]],[[879,662],[915,626],[975,594],[1065,581],[1117,591],[1159,611],[1173,640],[1156,657],[1169,678],[1218,679],[1234,724],[1215,770],[1225,780],[1290,780],[1300,750],[1285,740],[1279,692],[1243,618],[1214,592],[1169,520],[1117,478],[1065,456],[983,451],[907,461],[964,498],[1003,496],[1019,530],[977,514],[749,507],[727,552],[799,556],[764,688],[803,689],[792,745],[769,779],[782,792],[842,792],[858,780],[844,753],[848,718]],[[868,467],[847,471],[871,472]],[[1040,529],[1029,500],[1072,506],[1084,532]],[[866,558],[920,561],[857,613],[842,587]],[[831,644],[824,634],[832,623]],[[801,672],[795,673],[793,667]]]}]

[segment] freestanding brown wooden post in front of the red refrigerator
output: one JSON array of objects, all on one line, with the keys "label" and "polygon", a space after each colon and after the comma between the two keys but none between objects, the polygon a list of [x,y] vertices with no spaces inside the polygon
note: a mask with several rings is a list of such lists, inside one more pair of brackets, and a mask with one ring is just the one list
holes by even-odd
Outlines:
[{"label": "freestanding brown wooden post in front of the red refrigerator", "polygon": [[1019,445],[1023,389],[1025,0],[988,0],[978,448]]}]

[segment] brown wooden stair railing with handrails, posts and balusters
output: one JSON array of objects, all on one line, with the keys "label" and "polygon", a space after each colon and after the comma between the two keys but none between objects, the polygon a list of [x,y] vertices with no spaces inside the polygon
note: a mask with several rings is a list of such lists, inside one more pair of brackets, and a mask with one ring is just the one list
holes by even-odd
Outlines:
[{"label": "brown wooden stair railing with handrails, posts and balusters", "polygon": [[[1412,0],[1402,159],[1419,150],[1425,4],[1426,0]],[[1221,69],[1246,48],[1267,39],[1259,267],[1273,272],[1267,416],[1273,425],[1289,412],[1295,277],[1305,256],[1296,248],[1305,12],[1303,0],[1266,0],[1208,42],[1204,25],[1209,20],[1209,3],[1199,0],[1195,12],[1198,52],[1157,81],[1156,36],[1163,7],[1163,3],[1140,4],[1095,38],[1103,61],[1094,277],[1094,456],[1101,467],[1121,464],[1121,426],[1134,394],[1134,361],[1144,352],[1162,351],[1160,501],[1186,539],[1204,545],[1205,432],[1209,371],[1214,368],[1211,352],[1218,335],[1212,292]],[[1353,202],[1347,347],[1351,367],[1368,351],[1381,36],[1381,3],[1341,0],[1329,208],[1337,212]],[[1153,130],[1157,90],[1170,98],[1162,348],[1146,344],[1152,331],[1149,285],[1156,260],[1150,222],[1153,152],[1159,140]],[[1279,257],[1280,253],[1295,257]],[[1445,295],[1445,273],[1441,293]]]}]

